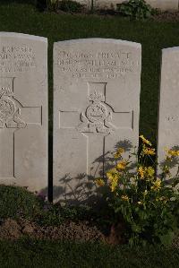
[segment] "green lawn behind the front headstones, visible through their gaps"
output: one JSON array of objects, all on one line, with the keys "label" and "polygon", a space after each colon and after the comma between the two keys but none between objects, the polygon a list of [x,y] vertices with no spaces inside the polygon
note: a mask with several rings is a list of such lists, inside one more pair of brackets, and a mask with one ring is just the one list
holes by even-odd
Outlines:
[{"label": "green lawn behind the front headstones, visible through their gaps", "polygon": [[0,4],[0,30],[44,36],[49,41],[49,108],[52,129],[52,47],[65,39],[109,38],[142,45],[140,131],[156,142],[161,49],[179,45],[179,22],[130,22],[117,16],[40,13],[30,4]]}]

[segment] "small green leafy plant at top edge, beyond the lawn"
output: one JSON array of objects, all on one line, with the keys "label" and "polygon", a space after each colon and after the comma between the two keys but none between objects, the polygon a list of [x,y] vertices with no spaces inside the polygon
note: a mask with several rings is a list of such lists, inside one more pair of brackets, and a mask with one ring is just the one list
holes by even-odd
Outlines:
[{"label": "small green leafy plant at top edge, beyond the lawn", "polygon": [[144,0],[129,0],[129,2],[117,4],[117,10],[135,20],[149,18],[153,11],[151,6]]}]

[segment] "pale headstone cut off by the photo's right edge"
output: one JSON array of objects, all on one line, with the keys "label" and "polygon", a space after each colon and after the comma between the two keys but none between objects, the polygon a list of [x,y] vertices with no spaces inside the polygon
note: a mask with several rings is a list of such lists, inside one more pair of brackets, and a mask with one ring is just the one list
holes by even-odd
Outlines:
[{"label": "pale headstone cut off by the photo's right edge", "polygon": [[[179,149],[179,48],[162,50],[158,111],[158,161],[165,164],[165,149]],[[158,170],[159,172],[161,169]],[[173,175],[177,166],[172,169]]]}]

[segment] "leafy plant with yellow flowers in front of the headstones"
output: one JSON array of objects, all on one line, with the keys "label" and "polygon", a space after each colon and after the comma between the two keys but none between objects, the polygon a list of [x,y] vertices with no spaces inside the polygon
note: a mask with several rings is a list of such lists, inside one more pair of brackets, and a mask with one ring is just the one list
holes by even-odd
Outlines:
[{"label": "leafy plant with yellow flowers in front of the headstones", "polygon": [[[155,149],[143,135],[140,137],[139,152],[134,150],[124,159],[124,148],[119,148],[114,156],[115,167],[107,171],[106,180],[98,178],[96,184],[110,189],[107,200],[115,214],[114,221],[117,223],[123,215],[124,235],[131,246],[169,245],[178,224],[179,193],[175,188],[178,177],[171,185],[166,184],[166,177],[170,176],[168,165],[163,169],[163,176],[156,177],[157,164],[152,159]],[[136,158],[135,169],[132,156]],[[179,151],[166,150],[166,160],[172,161],[178,156]],[[147,165],[148,160],[152,165]]]}]

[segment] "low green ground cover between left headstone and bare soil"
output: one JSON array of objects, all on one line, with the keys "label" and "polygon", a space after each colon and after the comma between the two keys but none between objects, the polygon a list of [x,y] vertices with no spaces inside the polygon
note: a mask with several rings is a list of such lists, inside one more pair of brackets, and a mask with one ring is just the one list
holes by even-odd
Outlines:
[{"label": "low green ground cover between left headstone and bare soil", "polygon": [[102,212],[99,214],[89,206],[61,207],[43,197],[22,187],[0,185],[0,223],[7,218],[30,220],[40,226],[58,226],[65,220],[102,220]]}]

